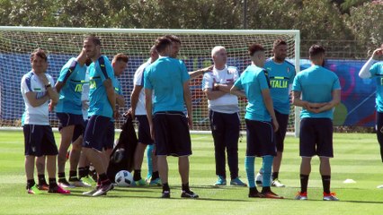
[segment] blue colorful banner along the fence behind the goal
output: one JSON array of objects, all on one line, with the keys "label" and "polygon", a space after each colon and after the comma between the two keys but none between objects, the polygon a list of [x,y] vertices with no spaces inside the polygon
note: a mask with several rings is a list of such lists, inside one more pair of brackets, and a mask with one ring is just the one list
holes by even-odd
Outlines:
[{"label": "blue colorful banner along the fence behind the goal", "polygon": [[[48,73],[57,80],[61,66],[71,56],[49,55]],[[128,100],[133,87],[133,74],[138,66],[144,63],[147,58],[130,57],[128,71],[120,77],[122,90]],[[189,71],[194,71],[211,64],[208,58],[185,58],[183,59]],[[375,89],[376,83],[373,80],[362,80],[358,73],[365,60],[326,60],[325,67],[336,73],[342,86],[342,103],[335,108],[334,125],[358,125],[373,126],[375,121]],[[235,65],[239,71],[245,70],[250,64],[247,59],[229,58],[227,64]],[[300,60],[300,69],[310,66],[307,59]],[[22,116],[24,104],[20,92],[22,75],[31,70],[29,55],[21,54],[0,54],[0,119],[16,120]],[[204,94],[201,92],[200,80],[191,82],[193,93],[193,107],[195,111],[204,112],[207,107]],[[203,113],[199,113],[203,121]]]}]

